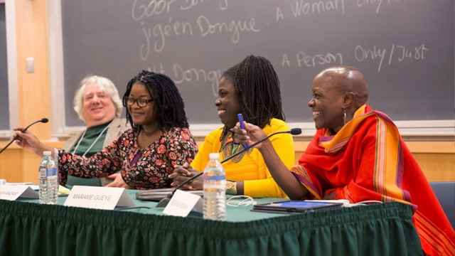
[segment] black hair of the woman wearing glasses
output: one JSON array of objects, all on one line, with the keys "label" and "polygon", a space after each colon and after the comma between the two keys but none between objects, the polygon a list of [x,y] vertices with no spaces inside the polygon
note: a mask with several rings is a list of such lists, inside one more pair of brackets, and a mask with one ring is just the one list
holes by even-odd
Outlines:
[{"label": "black hair of the woman wearing glasses", "polygon": [[[139,82],[149,91],[154,99],[154,116],[158,114],[158,127],[164,132],[172,127],[188,128],[188,119],[185,114],[185,105],[178,89],[171,78],[166,75],[142,70],[132,80],[129,80],[127,91],[123,95],[123,105],[127,107],[127,97],[132,86]],[[141,125],[133,123],[131,114],[127,111],[127,120],[135,131],[141,130]]]}]

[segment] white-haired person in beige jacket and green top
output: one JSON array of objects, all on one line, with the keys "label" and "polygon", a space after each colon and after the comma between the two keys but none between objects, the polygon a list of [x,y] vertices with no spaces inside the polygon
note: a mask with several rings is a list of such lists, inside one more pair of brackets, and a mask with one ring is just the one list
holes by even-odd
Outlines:
[{"label": "white-haired person in beige jacket and green top", "polygon": [[[63,146],[65,151],[90,157],[130,128],[126,119],[120,119],[122,100],[117,87],[107,78],[87,75],[80,82],[73,102],[75,112],[87,128],[68,139]],[[77,178],[68,175],[66,186],[106,186],[109,183],[109,186],[128,188],[120,174],[112,174],[107,178]]]}]

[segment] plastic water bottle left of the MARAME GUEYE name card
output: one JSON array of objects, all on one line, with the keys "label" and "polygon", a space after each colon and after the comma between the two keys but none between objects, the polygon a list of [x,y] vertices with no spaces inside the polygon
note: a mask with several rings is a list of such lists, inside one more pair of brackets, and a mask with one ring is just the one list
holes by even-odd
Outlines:
[{"label": "plastic water bottle left of the MARAME GUEYE name card", "polygon": [[39,166],[40,203],[56,204],[58,201],[58,171],[50,151],[44,151]]}]

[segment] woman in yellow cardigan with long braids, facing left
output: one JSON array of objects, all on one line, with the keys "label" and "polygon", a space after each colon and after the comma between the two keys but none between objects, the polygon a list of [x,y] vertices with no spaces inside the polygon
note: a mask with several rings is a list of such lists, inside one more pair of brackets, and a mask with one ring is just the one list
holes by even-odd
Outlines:
[{"label": "woman in yellow cardigan with long braids, facing left", "polygon": [[[238,122],[237,114],[242,113],[248,122],[256,124],[264,134],[288,131],[284,122],[282,100],[277,73],[266,58],[248,56],[240,64],[223,73],[218,85],[218,98],[215,100],[218,117],[223,127],[213,130],[205,137],[198,155],[191,166],[177,166],[173,186],[203,171],[208,155],[220,152],[220,161],[245,149],[232,140],[231,128]],[[294,165],[294,142],[290,134],[277,134],[271,138],[277,149],[280,161],[290,168]],[[244,154],[223,164],[227,182],[226,193],[258,197],[286,197],[277,186],[257,149],[249,149]],[[202,189],[200,176],[183,188]]]}]

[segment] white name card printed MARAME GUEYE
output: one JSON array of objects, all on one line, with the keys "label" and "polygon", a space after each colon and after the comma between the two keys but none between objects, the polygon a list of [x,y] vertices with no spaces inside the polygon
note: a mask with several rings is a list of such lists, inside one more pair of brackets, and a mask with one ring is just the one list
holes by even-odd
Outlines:
[{"label": "white name card printed MARAME GUEYE", "polygon": [[135,206],[124,188],[73,186],[63,206],[114,210],[115,206]]}]

